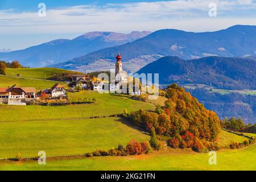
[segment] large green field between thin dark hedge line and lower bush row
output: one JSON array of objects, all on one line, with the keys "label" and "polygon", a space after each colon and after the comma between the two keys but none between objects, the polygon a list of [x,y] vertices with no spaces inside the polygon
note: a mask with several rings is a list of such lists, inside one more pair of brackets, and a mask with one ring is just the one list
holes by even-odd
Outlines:
[{"label": "large green field between thin dark hedge line and lower bush row", "polygon": [[142,142],[150,138],[118,118],[4,122],[0,130],[0,158],[14,158],[18,152],[34,157],[38,151],[46,151],[48,156],[85,154],[126,145],[131,139]]}]

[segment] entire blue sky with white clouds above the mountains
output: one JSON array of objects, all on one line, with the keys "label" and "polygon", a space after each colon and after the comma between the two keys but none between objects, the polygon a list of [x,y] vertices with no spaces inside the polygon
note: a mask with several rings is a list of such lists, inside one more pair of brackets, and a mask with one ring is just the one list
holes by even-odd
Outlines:
[{"label": "entire blue sky with white clouds above the mountains", "polygon": [[[46,17],[38,4],[46,4]],[[209,16],[215,3],[217,16]],[[215,31],[234,24],[256,25],[256,0],[82,1],[1,0],[0,50],[23,49],[89,31],[131,32],[176,28]]]}]

